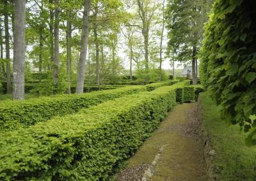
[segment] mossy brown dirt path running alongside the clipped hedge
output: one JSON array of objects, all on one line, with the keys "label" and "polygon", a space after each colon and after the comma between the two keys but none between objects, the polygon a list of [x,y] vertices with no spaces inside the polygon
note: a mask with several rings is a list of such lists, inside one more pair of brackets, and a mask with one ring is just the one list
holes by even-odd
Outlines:
[{"label": "mossy brown dirt path running alongside the clipped hedge", "polygon": [[140,149],[128,160],[117,180],[207,180],[198,124],[193,119],[196,103],[177,105]]}]

